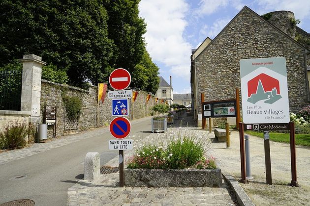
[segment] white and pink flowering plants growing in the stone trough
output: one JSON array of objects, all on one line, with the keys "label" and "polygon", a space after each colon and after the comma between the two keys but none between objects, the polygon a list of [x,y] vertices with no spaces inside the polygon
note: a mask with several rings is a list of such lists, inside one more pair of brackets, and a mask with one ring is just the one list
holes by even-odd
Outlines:
[{"label": "white and pink flowering plants growing in the stone trough", "polygon": [[[151,143],[150,143],[151,142]],[[155,137],[147,136],[135,143],[134,155],[127,168],[137,169],[211,169],[215,158],[206,158],[210,139],[193,132],[171,129]]]}]

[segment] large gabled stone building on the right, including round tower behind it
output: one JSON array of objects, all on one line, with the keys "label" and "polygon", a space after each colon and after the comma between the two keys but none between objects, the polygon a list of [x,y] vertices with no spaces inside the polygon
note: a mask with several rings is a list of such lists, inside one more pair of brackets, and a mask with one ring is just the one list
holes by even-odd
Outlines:
[{"label": "large gabled stone building on the right, including round tower behind it", "polygon": [[245,6],[212,41],[207,38],[202,48],[194,50],[191,55],[194,118],[199,119],[201,113],[201,93],[205,102],[235,98],[235,89],[240,89],[239,61],[250,58],[285,57],[290,110],[307,106],[310,50],[309,45],[295,39],[301,35],[307,37],[308,33],[296,23],[292,12],[259,16]]}]

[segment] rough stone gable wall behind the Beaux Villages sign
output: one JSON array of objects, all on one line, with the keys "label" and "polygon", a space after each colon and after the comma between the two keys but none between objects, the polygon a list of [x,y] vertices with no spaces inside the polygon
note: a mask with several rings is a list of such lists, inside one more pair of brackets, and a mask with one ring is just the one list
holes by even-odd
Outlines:
[{"label": "rough stone gable wall behind the Beaux Villages sign", "polygon": [[240,88],[240,59],[283,56],[290,109],[297,111],[308,105],[304,52],[246,8],[196,57],[198,105],[201,93],[206,102],[235,98],[235,88]]}]

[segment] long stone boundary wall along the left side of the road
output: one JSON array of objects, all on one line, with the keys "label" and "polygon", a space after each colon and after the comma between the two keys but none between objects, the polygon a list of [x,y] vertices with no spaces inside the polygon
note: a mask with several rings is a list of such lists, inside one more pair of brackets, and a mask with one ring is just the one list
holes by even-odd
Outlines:
[{"label": "long stone boundary wall along the left side of the road", "polygon": [[[79,97],[82,100],[82,114],[79,118],[78,129],[65,129],[64,128],[64,102],[62,95],[71,97]],[[131,109],[133,118],[142,118],[150,116],[149,108],[154,105],[155,98],[151,97],[148,105],[145,105],[146,93],[140,91],[136,101],[133,103]],[[67,86],[63,84],[54,83],[51,81],[42,80],[41,84],[41,109],[40,114],[43,120],[44,106],[55,107],[57,106],[57,129],[56,136],[64,134],[79,132],[85,129],[97,128],[97,118],[99,118],[99,127],[108,126],[112,117],[111,99],[105,97],[104,103],[99,103],[99,115],[97,115],[97,87],[90,86],[88,90],[80,89],[77,87]],[[131,102],[131,101],[129,101]],[[132,103],[130,103],[132,106]],[[132,115],[128,117],[132,119]],[[54,126],[48,126],[48,138],[53,137]]]}]

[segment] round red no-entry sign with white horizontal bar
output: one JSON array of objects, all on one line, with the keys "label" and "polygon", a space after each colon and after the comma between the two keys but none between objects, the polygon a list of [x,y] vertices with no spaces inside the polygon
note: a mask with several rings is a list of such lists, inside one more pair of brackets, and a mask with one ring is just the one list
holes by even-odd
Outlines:
[{"label": "round red no-entry sign with white horizontal bar", "polygon": [[109,83],[115,90],[126,89],[131,82],[130,73],[122,68],[114,70],[109,77]]}]

